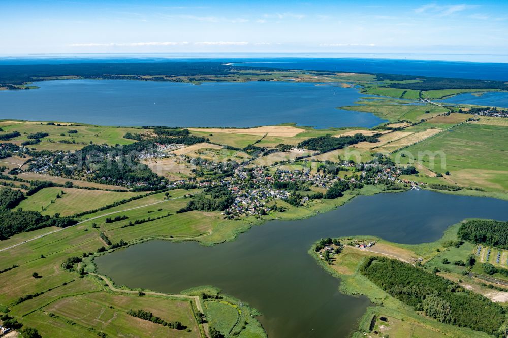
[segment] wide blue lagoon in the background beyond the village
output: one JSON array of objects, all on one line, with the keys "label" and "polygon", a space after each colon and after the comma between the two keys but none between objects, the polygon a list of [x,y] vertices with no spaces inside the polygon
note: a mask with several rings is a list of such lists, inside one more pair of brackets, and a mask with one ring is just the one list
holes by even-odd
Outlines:
[{"label": "wide blue lagoon in the background beyond the village", "polygon": [[186,127],[370,128],[384,122],[371,113],[337,109],[365,96],[337,84],[55,80],[34,85],[40,88],[0,92],[1,118]]}]

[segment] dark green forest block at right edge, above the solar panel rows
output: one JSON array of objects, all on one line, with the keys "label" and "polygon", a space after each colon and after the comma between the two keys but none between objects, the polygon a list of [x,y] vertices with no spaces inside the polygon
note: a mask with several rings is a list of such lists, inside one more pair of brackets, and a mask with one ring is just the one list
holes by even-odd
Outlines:
[{"label": "dark green forest block at right edge, above the solar panel rows", "polygon": [[468,220],[461,224],[457,235],[463,241],[508,249],[508,222]]}]

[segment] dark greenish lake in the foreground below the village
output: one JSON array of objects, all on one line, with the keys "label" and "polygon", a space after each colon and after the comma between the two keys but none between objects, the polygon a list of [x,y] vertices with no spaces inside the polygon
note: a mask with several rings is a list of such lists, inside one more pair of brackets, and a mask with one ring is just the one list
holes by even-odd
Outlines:
[{"label": "dark greenish lake in the foreground below the village", "polygon": [[270,337],[346,336],[370,305],[338,291],[307,250],[328,236],[377,235],[399,243],[434,241],[464,218],[508,220],[508,201],[430,191],[361,196],[296,221],[256,226],[233,242],[150,241],[98,257],[116,284],[161,292],[214,285],[258,308]]}]

